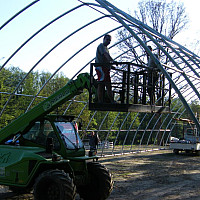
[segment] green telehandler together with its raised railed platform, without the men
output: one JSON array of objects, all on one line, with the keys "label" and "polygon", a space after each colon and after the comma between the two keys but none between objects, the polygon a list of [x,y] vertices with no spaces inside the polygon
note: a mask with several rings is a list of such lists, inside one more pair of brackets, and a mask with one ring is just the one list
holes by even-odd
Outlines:
[{"label": "green telehandler together with its raised railed platform, without the men", "polygon": [[[50,115],[54,109],[74,96],[89,91],[89,109],[120,112],[169,112],[171,86],[157,91],[159,105],[146,105],[146,69],[132,72],[131,63],[122,65],[122,80],[113,82],[117,102],[98,103],[98,83],[90,75],[83,73],[76,80],[69,81],[63,88],[21,115],[0,130],[0,184],[13,191],[34,189],[36,200],[73,200],[76,192],[87,200],[106,199],[113,181],[109,171],[97,162],[96,152],[85,155],[73,116]],[[126,67],[125,67],[126,66]],[[142,66],[143,67],[143,66]],[[160,77],[164,85],[165,77]],[[142,83],[141,83],[142,82]],[[169,101],[164,104],[164,97]],[[131,104],[132,97],[133,104]],[[138,98],[141,96],[141,98]],[[139,104],[140,103],[140,104]],[[93,160],[93,162],[92,162]]]}]

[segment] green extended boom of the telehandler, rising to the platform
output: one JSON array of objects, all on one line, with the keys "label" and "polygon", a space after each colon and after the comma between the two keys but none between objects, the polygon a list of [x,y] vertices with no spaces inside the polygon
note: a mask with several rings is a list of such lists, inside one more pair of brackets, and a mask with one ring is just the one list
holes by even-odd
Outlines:
[{"label": "green extended boom of the telehandler, rising to the platform", "polygon": [[36,121],[42,116],[49,114],[58,106],[70,100],[75,95],[80,94],[84,88],[89,89],[90,75],[80,74],[76,80],[68,82],[63,88],[56,91],[53,95],[42,101],[33,109],[21,115],[5,128],[0,130],[0,144],[5,142],[10,136],[22,132],[31,122]]}]

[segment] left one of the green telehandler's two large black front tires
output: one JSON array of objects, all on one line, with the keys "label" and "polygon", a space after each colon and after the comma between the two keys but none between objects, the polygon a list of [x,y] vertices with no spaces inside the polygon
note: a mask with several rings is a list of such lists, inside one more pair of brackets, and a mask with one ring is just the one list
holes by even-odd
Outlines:
[{"label": "left one of the green telehandler's two large black front tires", "polygon": [[38,176],[34,184],[35,200],[74,200],[73,180],[61,170],[48,170]]}]

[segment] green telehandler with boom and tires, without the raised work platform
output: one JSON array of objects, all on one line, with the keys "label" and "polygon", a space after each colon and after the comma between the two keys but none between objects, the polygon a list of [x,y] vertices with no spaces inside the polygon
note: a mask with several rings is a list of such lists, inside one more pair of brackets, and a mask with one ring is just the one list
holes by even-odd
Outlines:
[{"label": "green telehandler with boom and tires, without the raised work platform", "polygon": [[0,130],[0,185],[33,190],[35,200],[108,198],[112,176],[96,155],[86,155],[74,117],[50,115],[89,86],[90,75],[80,74]]}]

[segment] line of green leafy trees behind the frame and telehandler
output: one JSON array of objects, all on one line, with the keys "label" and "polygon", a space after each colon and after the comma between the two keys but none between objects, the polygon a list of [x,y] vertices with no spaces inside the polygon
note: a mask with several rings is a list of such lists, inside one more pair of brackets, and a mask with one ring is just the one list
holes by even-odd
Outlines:
[{"label": "line of green leafy trees behind the frame and telehandler", "polygon": [[[26,73],[18,67],[2,69],[0,73],[1,128],[5,127],[12,120],[26,112],[27,108],[31,109],[45,98],[55,93],[69,81],[69,79],[63,73],[57,74],[50,79],[51,76],[52,74],[49,72],[36,71],[31,72],[26,77]],[[24,79],[24,77],[26,78]],[[47,81],[48,83],[45,85]],[[45,87],[43,87],[44,85]],[[41,90],[42,87],[43,89]],[[35,98],[33,101],[36,95],[37,98]],[[133,142],[133,138],[134,143],[138,144],[141,142],[141,134],[143,133],[139,131],[136,134],[137,129],[164,129],[170,120],[170,117],[166,120],[165,115],[163,115],[161,118],[159,118],[159,115],[152,118],[153,114],[146,115],[145,113],[95,113],[94,111],[88,110],[88,96],[88,91],[84,90],[84,92],[78,95],[75,99],[70,99],[65,104],[59,106],[52,112],[52,114],[66,114],[74,115],[76,117],[79,116],[79,121],[81,120],[83,125],[82,131],[80,132],[82,136],[87,134],[87,130],[101,130],[99,132],[100,137],[102,140],[104,140],[108,134],[107,130],[110,129],[107,139],[109,141],[115,141],[117,144],[123,144],[124,141],[125,144],[131,144]],[[177,101],[178,99],[173,100],[172,107],[173,104],[177,104]],[[198,102],[192,102],[191,107],[193,110],[196,110],[196,112],[200,113],[200,106]],[[179,111],[179,113],[180,112],[181,111]],[[145,120],[142,121],[144,116]],[[183,115],[183,117],[187,118],[188,116]],[[149,121],[151,121],[150,124]],[[157,124],[157,127],[154,127],[155,124]],[[161,124],[162,127],[160,127]],[[168,129],[170,129],[170,127],[168,127]],[[144,134],[143,142],[148,142],[148,140],[150,140],[150,143],[155,142],[154,139],[156,134],[157,133],[154,131],[151,133],[151,138],[149,138],[149,133],[147,131],[147,133]],[[176,130],[177,136],[181,134],[182,132],[180,128],[178,131]]]}]

